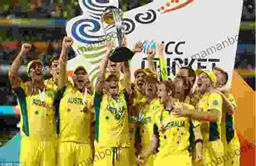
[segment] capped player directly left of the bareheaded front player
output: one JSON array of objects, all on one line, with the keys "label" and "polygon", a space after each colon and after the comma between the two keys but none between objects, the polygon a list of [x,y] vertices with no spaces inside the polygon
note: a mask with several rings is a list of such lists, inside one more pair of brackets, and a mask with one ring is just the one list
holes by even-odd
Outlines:
[{"label": "capped player directly left of the bareheaded front player", "polygon": [[[153,118],[155,113],[162,107],[156,95],[158,75],[156,73],[151,73],[146,76],[145,80],[146,102],[142,101],[134,105],[134,109],[139,113],[139,134],[141,137],[142,151],[150,145],[153,134]],[[153,164],[154,155],[150,154],[146,158],[146,165],[153,166]]]}]

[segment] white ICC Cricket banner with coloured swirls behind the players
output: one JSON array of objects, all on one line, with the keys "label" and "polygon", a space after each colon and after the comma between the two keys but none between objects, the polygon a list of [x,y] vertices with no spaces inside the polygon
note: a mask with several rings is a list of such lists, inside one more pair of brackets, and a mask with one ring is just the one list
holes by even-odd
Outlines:
[{"label": "white ICC Cricket banner with coloured swirls behind the players", "polygon": [[[124,13],[128,48],[133,49],[138,41],[146,41],[142,53],[134,55],[131,60],[131,72],[146,67],[147,49],[155,49],[156,42],[165,41],[169,76],[175,75],[178,67],[190,65],[194,69],[222,67],[232,78],[242,0],[232,2],[228,12],[232,15],[227,13],[226,6],[230,2],[226,1],[168,1],[154,0]],[[104,35],[101,14],[107,6],[118,7],[118,0],[79,0],[79,5],[83,15],[71,19],[66,27],[67,35],[74,39],[72,47],[78,55],[68,61],[68,70],[72,71],[76,65],[83,64],[95,83],[99,62],[106,51],[104,43],[116,40],[114,25],[105,27],[107,35]],[[157,53],[154,64],[159,68]]]}]

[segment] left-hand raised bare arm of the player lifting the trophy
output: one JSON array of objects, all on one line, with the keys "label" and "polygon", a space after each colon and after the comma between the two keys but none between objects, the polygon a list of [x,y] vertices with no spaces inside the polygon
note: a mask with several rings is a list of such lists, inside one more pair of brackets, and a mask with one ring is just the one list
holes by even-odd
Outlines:
[{"label": "left-hand raised bare arm of the player lifting the trophy", "polygon": [[101,60],[101,65],[99,66],[98,72],[98,82],[95,91],[101,92],[104,89],[104,73],[109,63],[110,50],[114,47],[114,43],[107,43],[107,50],[104,54],[103,59]]}]

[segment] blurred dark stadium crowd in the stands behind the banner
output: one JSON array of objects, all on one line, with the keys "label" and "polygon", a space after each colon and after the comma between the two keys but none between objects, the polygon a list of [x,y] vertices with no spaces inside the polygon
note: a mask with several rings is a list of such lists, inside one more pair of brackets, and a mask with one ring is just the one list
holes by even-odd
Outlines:
[{"label": "blurred dark stadium crowd in the stands behind the banner", "polygon": [[[1,0],[3,5],[0,7],[0,19],[70,19],[82,14],[78,5],[78,0],[59,0],[58,3],[54,2],[54,0],[23,1],[21,3],[20,0],[9,0],[6,2],[5,0]],[[119,0],[119,2],[119,7],[122,8],[123,11],[128,11],[150,3],[152,0]],[[232,7],[232,5],[230,5],[230,7]],[[254,70],[253,76],[246,76],[245,80],[255,91],[255,0],[244,0],[241,21],[241,24],[246,24],[247,22],[251,24],[250,22],[254,22],[254,27],[240,30],[235,69]],[[11,27],[11,29],[6,26],[1,26],[1,28],[5,28],[6,35],[14,36],[21,34],[24,36],[24,32],[22,32],[22,34],[21,31],[19,31],[21,29],[19,26]],[[56,30],[56,32],[57,31],[58,30]],[[33,31],[33,33],[35,32]],[[40,32],[38,31],[37,35],[40,35],[39,33]],[[61,34],[51,34],[52,40],[48,40],[48,43],[32,43],[32,50],[29,55],[25,56],[23,65],[27,65],[29,61],[34,59],[41,59],[47,67],[49,65],[49,59],[54,55],[59,55],[61,52],[61,40],[66,35],[65,27],[63,26],[58,33]],[[6,41],[3,40],[0,42],[2,42],[0,43],[0,65],[11,65],[21,49],[22,39],[19,42],[6,43]],[[72,49],[69,50],[68,59],[72,59],[75,56],[74,51]],[[11,91],[10,83],[6,82],[7,75],[1,74],[0,77],[0,94],[2,97],[0,99],[0,106],[17,105],[16,97]],[[0,128],[0,135],[3,134],[8,137],[8,135],[13,134],[13,131],[14,133],[15,131],[18,131],[18,128],[16,127],[18,121],[19,117],[0,116],[0,126],[3,126]]]}]

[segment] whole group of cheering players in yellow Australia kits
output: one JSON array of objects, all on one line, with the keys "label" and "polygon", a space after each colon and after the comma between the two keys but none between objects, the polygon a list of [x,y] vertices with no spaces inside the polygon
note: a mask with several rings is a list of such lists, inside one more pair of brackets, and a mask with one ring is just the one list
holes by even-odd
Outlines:
[{"label": "whole group of cheering players in yellow Australia kits", "polygon": [[[40,60],[27,65],[31,81],[18,77],[30,44],[23,44],[13,61],[9,78],[20,107],[22,166],[200,166],[217,164],[240,149],[233,116],[237,106],[226,71],[182,67],[170,79],[162,42],[147,52],[148,68],[136,70],[131,83],[129,62],[109,61],[115,46],[107,43],[92,86],[85,66],[67,77],[72,43],[64,37],[60,56],[50,61],[49,80],[43,80]],[[135,43],[134,56],[142,48],[143,43]],[[239,160],[237,155],[218,165],[238,166]]]}]

